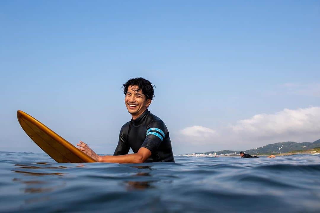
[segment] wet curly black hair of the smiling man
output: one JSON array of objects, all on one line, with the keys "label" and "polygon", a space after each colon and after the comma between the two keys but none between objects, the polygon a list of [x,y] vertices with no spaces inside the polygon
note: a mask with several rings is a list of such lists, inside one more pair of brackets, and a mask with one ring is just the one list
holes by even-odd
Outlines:
[{"label": "wet curly black hair of the smiling man", "polygon": [[128,87],[130,85],[138,86],[138,89],[136,89],[134,91],[138,92],[141,89],[142,94],[146,96],[147,100],[154,99],[155,95],[154,95],[153,87],[155,87],[155,85],[151,84],[151,82],[149,80],[146,80],[144,78],[131,78],[131,79],[129,79],[126,83],[124,83],[122,85],[124,95],[126,95],[126,93],[128,92]]}]

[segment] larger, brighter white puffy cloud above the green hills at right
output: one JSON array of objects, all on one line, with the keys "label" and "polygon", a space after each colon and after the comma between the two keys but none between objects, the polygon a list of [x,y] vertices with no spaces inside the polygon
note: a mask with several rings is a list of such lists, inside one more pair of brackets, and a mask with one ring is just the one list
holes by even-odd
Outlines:
[{"label": "larger, brighter white puffy cloud above the green hills at right", "polygon": [[[233,133],[254,139],[273,139],[320,132],[320,107],[258,114],[231,126]],[[290,137],[289,137],[290,136]],[[280,142],[280,141],[279,141]]]}]

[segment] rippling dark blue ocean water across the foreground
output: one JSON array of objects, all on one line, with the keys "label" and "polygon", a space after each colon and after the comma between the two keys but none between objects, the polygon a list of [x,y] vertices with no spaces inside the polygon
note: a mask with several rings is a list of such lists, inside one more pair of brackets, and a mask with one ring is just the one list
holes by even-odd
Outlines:
[{"label": "rippling dark blue ocean water across the foreground", "polygon": [[1,212],[320,212],[320,155],[61,164],[0,152]]}]

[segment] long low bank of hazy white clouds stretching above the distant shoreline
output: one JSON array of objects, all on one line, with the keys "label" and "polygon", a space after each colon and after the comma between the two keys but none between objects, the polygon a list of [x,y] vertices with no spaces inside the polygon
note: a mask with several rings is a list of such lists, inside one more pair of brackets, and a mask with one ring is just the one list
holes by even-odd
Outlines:
[{"label": "long low bank of hazy white clouds stretching above the distant shoreline", "polygon": [[181,153],[244,150],[282,141],[313,142],[320,139],[320,107],[257,114],[219,129],[190,126],[176,135]]}]

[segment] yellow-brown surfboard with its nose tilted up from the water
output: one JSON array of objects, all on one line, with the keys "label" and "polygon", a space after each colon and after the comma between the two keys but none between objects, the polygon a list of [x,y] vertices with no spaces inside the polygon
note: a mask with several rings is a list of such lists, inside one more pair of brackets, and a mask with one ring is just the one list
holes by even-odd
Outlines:
[{"label": "yellow-brown surfboard with its nose tilted up from the water", "polygon": [[93,163],[90,156],[27,113],[18,110],[18,121],[32,141],[58,163]]}]

